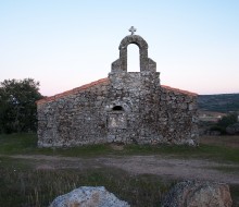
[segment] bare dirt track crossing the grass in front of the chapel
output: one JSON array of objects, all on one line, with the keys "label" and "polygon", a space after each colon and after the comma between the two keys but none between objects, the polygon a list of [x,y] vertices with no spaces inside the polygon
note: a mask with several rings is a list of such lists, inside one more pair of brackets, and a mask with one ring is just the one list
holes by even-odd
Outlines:
[{"label": "bare dirt track crossing the grass in front of the chapel", "polygon": [[[219,163],[200,159],[175,159],[169,156],[114,156],[98,158],[72,158],[45,155],[17,155],[36,169],[120,168],[131,174],[155,174],[167,179],[197,179],[239,184],[239,165]],[[221,170],[219,170],[221,169]],[[225,170],[222,170],[225,169]]]}]

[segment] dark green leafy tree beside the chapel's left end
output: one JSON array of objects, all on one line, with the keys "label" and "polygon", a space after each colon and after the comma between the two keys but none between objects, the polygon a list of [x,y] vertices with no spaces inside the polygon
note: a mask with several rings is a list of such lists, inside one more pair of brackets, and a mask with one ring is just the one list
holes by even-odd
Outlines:
[{"label": "dark green leafy tree beside the chapel's left end", "polygon": [[37,130],[36,100],[41,99],[39,82],[33,78],[4,80],[0,83],[0,132]]}]

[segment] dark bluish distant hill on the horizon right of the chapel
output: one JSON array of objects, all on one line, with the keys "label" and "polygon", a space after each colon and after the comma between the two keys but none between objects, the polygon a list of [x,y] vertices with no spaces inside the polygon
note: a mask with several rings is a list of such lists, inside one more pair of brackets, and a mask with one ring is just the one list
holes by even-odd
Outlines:
[{"label": "dark bluish distant hill on the horizon right of the chapel", "polygon": [[239,111],[239,94],[199,95],[198,107],[205,111]]}]

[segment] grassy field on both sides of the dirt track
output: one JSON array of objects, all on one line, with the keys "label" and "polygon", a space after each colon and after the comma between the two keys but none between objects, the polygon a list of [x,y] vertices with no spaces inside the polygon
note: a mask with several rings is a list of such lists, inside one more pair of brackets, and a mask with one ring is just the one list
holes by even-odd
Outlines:
[{"label": "grassy field on both sides of the dirt track", "polygon": [[[160,206],[161,199],[175,180],[159,175],[133,175],[115,168],[36,170],[24,160],[12,155],[51,155],[65,157],[99,157],[130,155],[169,155],[177,158],[200,158],[222,162],[239,163],[239,137],[202,137],[199,147],[186,146],[112,146],[96,145],[71,149],[39,149],[36,134],[0,135],[0,206],[48,206],[52,199],[75,187],[105,186],[131,206]],[[225,168],[222,171],[228,170]],[[230,170],[230,169],[229,169]],[[236,169],[237,170],[237,169]],[[230,186],[235,206],[239,198],[239,186]]]}]

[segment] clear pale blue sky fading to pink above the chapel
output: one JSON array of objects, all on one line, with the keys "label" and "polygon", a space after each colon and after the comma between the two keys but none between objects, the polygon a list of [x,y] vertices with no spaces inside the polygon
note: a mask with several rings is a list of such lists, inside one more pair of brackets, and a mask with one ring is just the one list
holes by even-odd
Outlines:
[{"label": "clear pale blue sky fading to pink above the chapel", "polygon": [[[239,93],[238,0],[0,0],[0,82],[32,77],[40,93],[103,78],[137,28],[162,85]],[[139,71],[128,46],[128,71]]]}]

